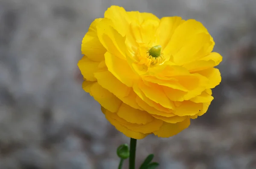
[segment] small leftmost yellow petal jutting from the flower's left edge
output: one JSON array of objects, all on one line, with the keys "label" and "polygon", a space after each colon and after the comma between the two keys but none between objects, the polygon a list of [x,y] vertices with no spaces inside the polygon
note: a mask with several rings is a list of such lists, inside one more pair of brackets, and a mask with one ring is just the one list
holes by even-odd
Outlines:
[{"label": "small leftmost yellow petal jutting from the flower's left edge", "polygon": [[100,62],[91,61],[87,56],[83,56],[77,65],[85,79],[89,81],[96,81],[93,73],[98,70],[99,63]]}]

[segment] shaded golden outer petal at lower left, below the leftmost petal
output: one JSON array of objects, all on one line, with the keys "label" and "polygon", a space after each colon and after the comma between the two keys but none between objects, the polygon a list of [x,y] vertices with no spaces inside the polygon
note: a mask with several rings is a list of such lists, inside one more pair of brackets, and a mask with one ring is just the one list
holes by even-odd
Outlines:
[{"label": "shaded golden outer petal at lower left, below the leftmost petal", "polygon": [[[88,89],[87,85],[89,85],[90,90]],[[89,91],[90,95],[99,102],[105,109],[111,112],[117,112],[122,101],[119,100],[116,96],[110,93],[108,90],[104,89],[99,85],[99,83],[84,83],[83,88],[86,89],[85,91]]]}]

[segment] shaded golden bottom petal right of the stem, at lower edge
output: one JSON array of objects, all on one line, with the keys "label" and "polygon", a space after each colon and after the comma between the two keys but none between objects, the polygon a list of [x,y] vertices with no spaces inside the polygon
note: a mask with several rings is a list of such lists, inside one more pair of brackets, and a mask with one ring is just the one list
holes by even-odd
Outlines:
[{"label": "shaded golden bottom petal right of the stem, at lower edge", "polygon": [[157,135],[158,137],[171,137],[173,135],[178,134],[182,130],[186,129],[190,125],[190,119],[187,118],[184,121],[181,121],[179,123],[166,123],[164,122],[162,127],[160,127],[160,130],[154,132],[154,135]]}]

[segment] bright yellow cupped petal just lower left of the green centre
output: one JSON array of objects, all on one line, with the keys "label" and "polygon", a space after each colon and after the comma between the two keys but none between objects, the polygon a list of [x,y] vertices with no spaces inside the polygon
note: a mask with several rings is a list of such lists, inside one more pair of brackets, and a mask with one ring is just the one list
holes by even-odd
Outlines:
[{"label": "bright yellow cupped petal just lower left of the green centre", "polygon": [[105,62],[108,70],[128,87],[132,87],[134,80],[139,78],[125,60],[119,59],[109,52],[105,54]]}]

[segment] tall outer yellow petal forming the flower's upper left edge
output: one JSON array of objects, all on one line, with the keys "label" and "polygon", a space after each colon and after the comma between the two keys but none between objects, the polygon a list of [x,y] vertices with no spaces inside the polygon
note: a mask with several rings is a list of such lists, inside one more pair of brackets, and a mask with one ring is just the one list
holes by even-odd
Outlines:
[{"label": "tall outer yellow petal forming the flower's upper left edge", "polygon": [[85,34],[81,45],[82,54],[86,55],[90,60],[94,62],[101,62],[104,60],[104,54],[106,52],[106,49],[99,42],[96,31],[96,25],[98,25],[101,20],[102,18],[99,18],[91,23],[90,28]]}]

